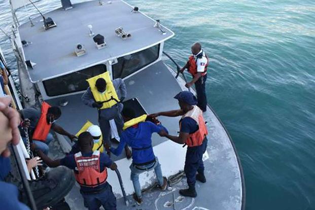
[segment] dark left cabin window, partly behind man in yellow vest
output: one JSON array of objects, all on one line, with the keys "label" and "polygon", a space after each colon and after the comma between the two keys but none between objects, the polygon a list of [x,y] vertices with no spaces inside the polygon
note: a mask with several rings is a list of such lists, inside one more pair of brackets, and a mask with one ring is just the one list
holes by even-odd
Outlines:
[{"label": "dark left cabin window, partly behind man in yellow vest", "polygon": [[106,65],[99,64],[81,71],[43,82],[48,96],[63,95],[86,90],[89,86],[87,79],[106,72]]}]

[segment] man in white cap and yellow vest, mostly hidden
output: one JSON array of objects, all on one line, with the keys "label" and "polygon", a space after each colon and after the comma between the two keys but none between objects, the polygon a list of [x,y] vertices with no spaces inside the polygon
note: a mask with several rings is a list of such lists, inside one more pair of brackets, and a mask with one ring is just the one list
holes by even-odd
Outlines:
[{"label": "man in white cap and yellow vest, mostly hidden", "polygon": [[[104,150],[103,138],[102,138],[102,133],[99,126],[93,125],[90,121],[87,121],[83,125],[81,130],[79,130],[79,132],[76,134],[76,136],[79,136],[81,133],[85,131],[89,132],[93,137],[93,142],[94,142],[93,151],[98,150],[99,152],[103,152]],[[69,154],[76,154],[78,152],[80,152],[80,147],[79,147],[79,144],[76,143],[72,146],[72,149],[69,152]]]}]

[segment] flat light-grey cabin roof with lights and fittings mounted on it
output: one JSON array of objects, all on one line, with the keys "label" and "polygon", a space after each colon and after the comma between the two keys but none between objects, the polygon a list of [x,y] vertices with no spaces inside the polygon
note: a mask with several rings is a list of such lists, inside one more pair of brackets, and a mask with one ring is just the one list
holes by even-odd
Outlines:
[{"label": "flat light-grey cabin roof with lights and fittings mounted on it", "polygon": [[[51,17],[57,27],[44,29],[42,17],[33,19],[35,24],[26,22],[19,26],[21,40],[31,42],[23,47],[26,60],[37,63],[29,68],[32,82],[68,74],[105,60],[130,54],[156,45],[171,38],[174,33],[162,27],[162,34],[153,27],[155,21],[141,12],[133,13],[132,8],[120,1],[112,4],[98,5],[98,1],[75,4],[71,10],[62,8],[45,14]],[[95,34],[105,37],[107,47],[98,50],[89,37],[88,25],[93,26]],[[115,29],[123,27],[132,37],[122,40],[117,37]],[[78,43],[84,45],[87,54],[77,57],[75,48]]]}]

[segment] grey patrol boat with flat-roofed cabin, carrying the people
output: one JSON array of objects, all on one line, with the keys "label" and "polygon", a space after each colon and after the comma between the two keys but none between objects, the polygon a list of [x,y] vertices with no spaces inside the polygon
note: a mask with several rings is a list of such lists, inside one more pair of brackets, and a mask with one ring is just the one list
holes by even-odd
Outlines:
[{"label": "grey patrol boat with flat-roofed cabin, carrying the people", "polygon": [[[60,106],[62,116],[58,124],[75,134],[87,120],[97,124],[96,109],[81,101],[88,87],[86,80],[109,72],[111,79],[124,80],[125,106],[139,110],[138,114],[179,109],[173,96],[187,90],[185,75],[178,77],[180,66],[163,52],[164,42],[174,33],[159,20],[121,0],[76,4],[69,0],[54,1],[49,9],[43,7],[43,2],[30,3],[10,1],[14,21],[12,47],[24,107],[39,106],[43,100]],[[22,12],[32,15],[25,17]],[[168,66],[163,54],[175,65]],[[141,186],[147,190],[143,204],[137,206],[132,199],[131,160],[124,154],[117,158],[112,155],[127,196],[123,198],[116,173],[108,170],[117,209],[244,209],[243,173],[232,139],[209,105],[204,118],[209,131],[203,156],[207,182],[196,183],[198,196],[179,194],[179,189],[186,186],[186,179],[181,179],[186,148],[154,134],[154,153],[170,186],[161,192],[151,187],[156,182],[153,171],[141,174]],[[174,135],[179,131],[179,118],[159,117],[159,120],[169,133]],[[56,141],[50,144],[50,156],[62,157],[73,143],[58,134],[55,137]],[[65,200],[72,209],[85,209],[78,185]]]}]

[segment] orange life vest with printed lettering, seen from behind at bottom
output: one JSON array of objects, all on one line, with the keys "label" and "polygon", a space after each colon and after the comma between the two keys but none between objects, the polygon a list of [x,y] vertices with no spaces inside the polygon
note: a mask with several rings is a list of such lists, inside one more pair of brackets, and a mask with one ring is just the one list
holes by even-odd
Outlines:
[{"label": "orange life vest with printed lettering, seen from behind at bottom", "polygon": [[84,187],[97,187],[106,183],[107,169],[100,171],[100,152],[94,151],[91,157],[83,157],[81,152],[75,154],[78,172],[75,173],[77,182]]}]

